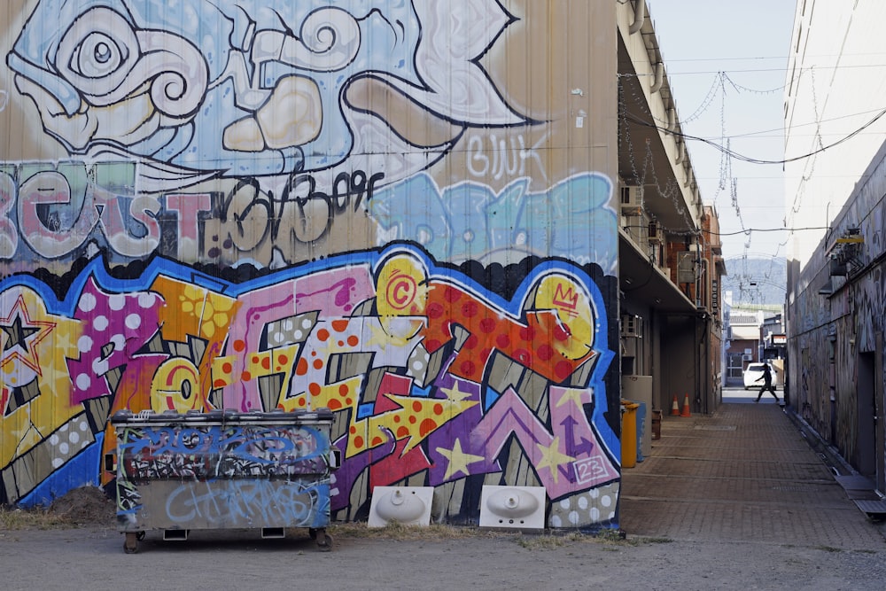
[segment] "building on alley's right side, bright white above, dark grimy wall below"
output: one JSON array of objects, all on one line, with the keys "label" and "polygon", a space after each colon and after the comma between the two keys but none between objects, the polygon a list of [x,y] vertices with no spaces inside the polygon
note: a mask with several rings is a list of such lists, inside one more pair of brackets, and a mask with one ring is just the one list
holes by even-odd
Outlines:
[{"label": "building on alley's right side, bright white above, dark grimy wall below", "polygon": [[789,400],[886,492],[886,6],[797,2],[785,88]]}]

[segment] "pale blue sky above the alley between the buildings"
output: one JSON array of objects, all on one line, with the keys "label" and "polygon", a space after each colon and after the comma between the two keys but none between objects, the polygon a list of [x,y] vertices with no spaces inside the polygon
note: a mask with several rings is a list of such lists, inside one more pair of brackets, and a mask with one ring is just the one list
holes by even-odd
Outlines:
[{"label": "pale blue sky above the alley between the buildings", "polygon": [[[648,0],[683,133],[750,159],[781,160],[785,69],[794,0]],[[724,91],[725,90],[725,91]],[[725,138],[725,139],[724,139]],[[717,207],[727,271],[740,259],[784,257],[781,164],[723,157],[689,140],[705,203]],[[750,237],[741,233],[750,229]],[[754,231],[758,230],[758,231]]]}]

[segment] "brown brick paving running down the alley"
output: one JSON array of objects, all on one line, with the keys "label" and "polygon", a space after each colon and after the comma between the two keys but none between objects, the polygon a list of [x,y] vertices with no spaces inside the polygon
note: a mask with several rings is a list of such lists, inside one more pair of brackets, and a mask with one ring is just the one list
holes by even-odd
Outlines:
[{"label": "brown brick paving running down the alley", "polygon": [[622,473],[628,535],[886,549],[883,526],[849,500],[773,401],[664,416],[661,432]]}]

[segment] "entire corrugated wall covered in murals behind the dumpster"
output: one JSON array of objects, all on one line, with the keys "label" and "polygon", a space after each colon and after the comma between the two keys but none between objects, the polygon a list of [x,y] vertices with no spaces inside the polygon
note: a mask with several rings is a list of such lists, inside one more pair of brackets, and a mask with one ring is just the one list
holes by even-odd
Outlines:
[{"label": "entire corrugated wall covered in murals behind the dumpster", "polygon": [[107,484],[119,409],[328,407],[333,518],[617,525],[597,4],[6,3],[0,502]]}]

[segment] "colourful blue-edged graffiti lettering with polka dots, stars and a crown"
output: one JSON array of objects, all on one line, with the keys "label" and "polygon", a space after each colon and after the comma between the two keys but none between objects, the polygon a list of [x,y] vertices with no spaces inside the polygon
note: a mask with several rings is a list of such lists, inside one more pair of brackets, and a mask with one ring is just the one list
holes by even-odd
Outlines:
[{"label": "colourful blue-edged graffiti lettering with polka dots, stars and a crown", "polygon": [[[365,509],[372,486],[417,475],[430,486],[491,476],[545,486],[571,508],[564,525],[614,516],[611,352],[600,292],[580,268],[540,264],[502,299],[407,245],[245,284],[161,260],[123,281],[99,263],[64,299],[30,276],[2,284],[9,502],[107,481],[98,457],[114,448],[107,417],[119,409],[328,407],[345,456],[331,496],[339,517]],[[157,436],[157,450],[178,445]],[[140,440],[128,445],[150,447]],[[259,465],[249,454],[240,459]]]}]

